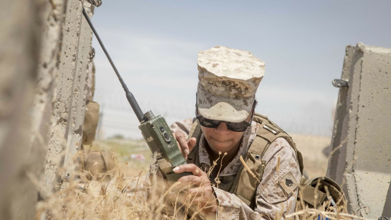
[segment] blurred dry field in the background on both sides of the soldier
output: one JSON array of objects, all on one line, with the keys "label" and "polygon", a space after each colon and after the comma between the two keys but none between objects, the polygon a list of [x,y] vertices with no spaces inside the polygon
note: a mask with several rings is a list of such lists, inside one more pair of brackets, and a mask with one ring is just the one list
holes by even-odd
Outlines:
[{"label": "blurred dry field in the background on both sides of the soldier", "polygon": [[[326,175],[328,146],[331,138],[313,135],[291,135],[297,148],[301,151],[304,159],[304,168],[309,177]],[[143,169],[146,173],[150,163],[150,153],[144,140],[131,139],[107,139],[94,141],[91,150],[109,150],[117,155],[122,171],[127,175],[134,176]],[[131,159],[132,154],[141,154],[144,161]],[[126,164],[127,162],[127,164]]]}]

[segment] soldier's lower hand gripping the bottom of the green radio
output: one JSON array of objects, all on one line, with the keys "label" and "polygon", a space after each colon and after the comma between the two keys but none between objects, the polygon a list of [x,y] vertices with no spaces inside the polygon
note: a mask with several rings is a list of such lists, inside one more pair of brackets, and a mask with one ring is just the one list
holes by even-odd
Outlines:
[{"label": "soldier's lower hand gripping the bottom of the green radio", "polygon": [[185,186],[185,189],[188,190],[187,206],[195,205],[206,213],[216,213],[217,199],[213,193],[208,175],[201,168],[195,166],[195,164],[183,164],[174,168],[173,171],[175,173],[193,173],[193,175],[187,175],[178,180],[180,186]]}]

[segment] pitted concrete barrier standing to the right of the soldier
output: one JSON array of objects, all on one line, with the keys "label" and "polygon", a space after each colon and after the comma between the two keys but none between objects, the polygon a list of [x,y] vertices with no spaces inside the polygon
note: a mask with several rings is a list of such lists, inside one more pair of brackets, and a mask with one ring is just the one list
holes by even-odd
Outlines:
[{"label": "pitted concrete barrier standing to the right of the soldier", "polygon": [[357,44],[348,85],[344,123],[334,128],[341,137],[332,142],[346,154],[332,156],[328,175],[344,186],[351,213],[377,218],[390,209],[391,49]]}]

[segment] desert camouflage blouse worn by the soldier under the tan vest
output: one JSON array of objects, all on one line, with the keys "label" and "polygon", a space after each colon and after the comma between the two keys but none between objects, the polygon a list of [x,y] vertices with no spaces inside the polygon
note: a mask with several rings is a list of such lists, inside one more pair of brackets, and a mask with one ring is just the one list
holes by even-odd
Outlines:
[{"label": "desert camouflage blouse worn by the soldier under the tan vest", "polygon": [[[172,132],[182,131],[187,138],[192,127],[192,121],[193,119],[187,119],[182,122],[176,122],[170,128]],[[259,127],[260,124],[253,121],[251,128],[244,132],[236,156],[218,175],[222,184],[235,179],[241,165],[239,157],[242,155],[244,158]],[[198,153],[202,170],[210,168],[205,142],[204,135],[201,135]],[[301,179],[294,150],[284,138],[277,138],[267,148],[263,159],[266,161],[266,164],[261,182],[256,190],[255,209],[251,209],[236,195],[213,187],[218,201],[217,219],[283,219],[285,215],[294,212],[298,193],[297,186],[300,184]],[[157,164],[151,166],[150,174],[156,173],[154,169],[157,169]],[[289,184],[289,188],[284,182],[288,178],[292,181],[292,184]]]}]

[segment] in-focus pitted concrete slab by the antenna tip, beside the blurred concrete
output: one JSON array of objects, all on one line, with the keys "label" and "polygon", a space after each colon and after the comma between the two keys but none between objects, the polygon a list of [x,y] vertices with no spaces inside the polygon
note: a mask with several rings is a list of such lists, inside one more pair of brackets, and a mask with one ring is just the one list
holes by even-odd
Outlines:
[{"label": "in-focus pitted concrete slab by the antenna tip, beside the blurred concrete", "polygon": [[[92,15],[91,5],[86,11]],[[57,95],[54,100],[53,129],[47,149],[47,162],[41,191],[50,195],[56,188],[64,162],[73,162],[80,149],[86,103],[89,52],[92,32],[82,15],[83,1],[68,0],[63,25],[63,43],[59,54],[59,71],[56,78]]]}]

